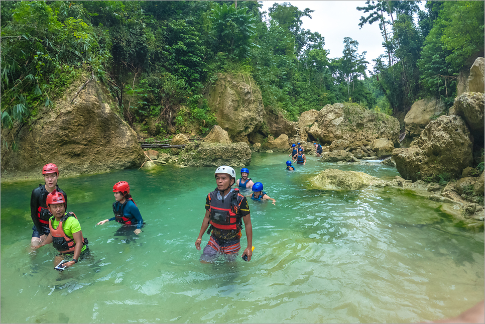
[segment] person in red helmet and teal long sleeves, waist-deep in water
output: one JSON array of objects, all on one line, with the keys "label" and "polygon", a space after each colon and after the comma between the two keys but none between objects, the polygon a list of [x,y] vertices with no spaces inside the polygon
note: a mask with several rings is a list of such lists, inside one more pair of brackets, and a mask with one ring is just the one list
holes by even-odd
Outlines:
[{"label": "person in red helmet and teal long sleeves, waist-deep in water", "polygon": [[140,234],[142,232],[143,219],[138,206],[130,194],[130,185],[126,181],[117,182],[113,186],[113,192],[116,200],[113,202],[114,217],[101,221],[96,225],[102,225],[109,221],[116,221],[125,226],[136,225],[135,234]]}]

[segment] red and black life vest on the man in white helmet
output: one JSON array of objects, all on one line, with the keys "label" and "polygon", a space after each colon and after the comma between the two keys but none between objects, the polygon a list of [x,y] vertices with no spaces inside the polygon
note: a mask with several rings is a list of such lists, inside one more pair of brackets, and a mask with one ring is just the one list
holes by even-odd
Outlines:
[{"label": "red and black life vest on the man in white helmet", "polygon": [[[234,189],[229,199],[223,201],[213,198],[217,189],[209,193],[209,224],[219,230],[240,230],[243,228],[240,204],[244,196],[239,194],[239,189]],[[210,230],[210,228],[209,228]]]}]

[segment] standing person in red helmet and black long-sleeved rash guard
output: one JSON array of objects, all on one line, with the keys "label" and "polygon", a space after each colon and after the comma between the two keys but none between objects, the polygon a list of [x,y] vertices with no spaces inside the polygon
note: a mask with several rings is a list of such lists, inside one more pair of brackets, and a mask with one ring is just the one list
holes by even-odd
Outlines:
[{"label": "standing person in red helmet and black long-sleeved rash guard", "polygon": [[57,165],[48,163],[42,168],[42,175],[44,176],[45,184],[40,183],[37,188],[32,190],[30,198],[30,212],[34,226],[32,227],[33,246],[39,245],[49,235],[49,219],[52,214],[47,209],[46,199],[47,195],[52,191],[62,193],[67,206],[67,194],[57,186],[57,179],[59,178],[59,169]]}]

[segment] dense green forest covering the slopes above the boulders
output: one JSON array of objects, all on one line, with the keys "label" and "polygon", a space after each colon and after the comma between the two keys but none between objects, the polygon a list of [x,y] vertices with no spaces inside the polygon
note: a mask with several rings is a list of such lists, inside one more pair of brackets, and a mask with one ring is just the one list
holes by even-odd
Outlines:
[{"label": "dense green forest covering the slopes above the boulders", "polygon": [[130,125],[157,133],[214,125],[204,95],[219,72],[249,73],[267,109],[290,120],[343,101],[395,116],[426,96],[450,106],[457,75],[483,56],[484,2],[418,3],[356,8],[356,25],[382,31],[383,54],[369,62],[348,37],[328,58],[325,35],[303,28],[311,8],[289,2],[265,19],[256,1],[3,1],[2,126],[35,120],[81,74],[109,87]]}]

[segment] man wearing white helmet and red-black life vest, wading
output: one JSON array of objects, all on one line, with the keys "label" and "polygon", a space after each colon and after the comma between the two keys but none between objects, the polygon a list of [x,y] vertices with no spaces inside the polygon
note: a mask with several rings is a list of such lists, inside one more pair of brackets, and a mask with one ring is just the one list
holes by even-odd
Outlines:
[{"label": "man wearing white helmet and red-black life vest, wading", "polygon": [[[236,173],[230,166],[220,166],[215,170],[217,188],[207,195],[205,201],[205,216],[202,221],[195,247],[200,250],[202,235],[209,228],[207,234],[212,234],[209,242],[200,256],[201,262],[210,262],[220,254],[233,260],[239,252],[241,229],[243,222],[246,229],[248,246],[243,252],[251,260],[253,255],[253,226],[248,200],[231,186],[236,181]],[[210,227],[209,227],[210,225]]]}]

